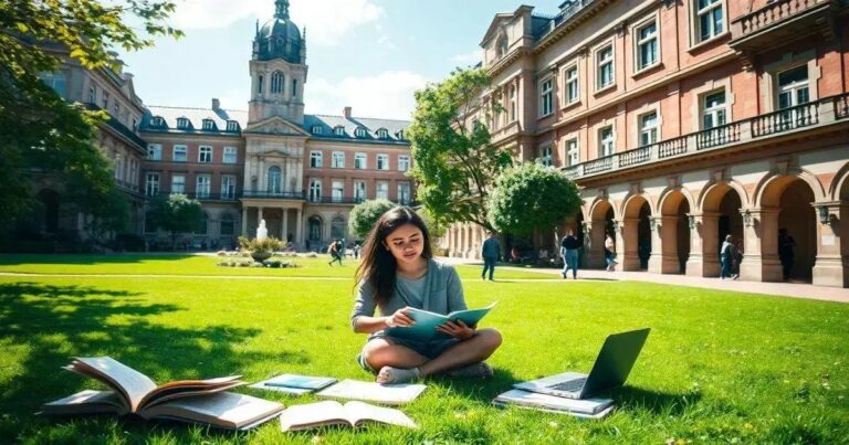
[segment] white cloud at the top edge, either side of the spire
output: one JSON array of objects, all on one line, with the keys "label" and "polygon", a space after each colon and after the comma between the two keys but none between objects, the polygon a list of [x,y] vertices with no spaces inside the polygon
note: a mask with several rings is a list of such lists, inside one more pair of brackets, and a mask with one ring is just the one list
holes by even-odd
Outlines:
[{"label": "white cloud at the top edge, either side of the spire", "polygon": [[[371,0],[294,0],[292,21],[306,27],[307,44],[333,46],[356,28],[377,22],[382,8]],[[182,0],[171,17],[184,31],[227,28],[237,20],[258,18],[260,22],[274,15],[272,0]]]}]

